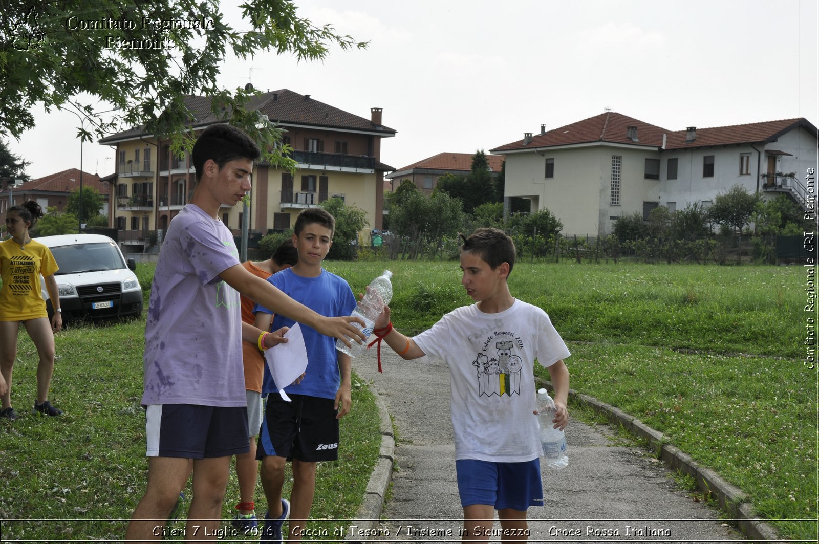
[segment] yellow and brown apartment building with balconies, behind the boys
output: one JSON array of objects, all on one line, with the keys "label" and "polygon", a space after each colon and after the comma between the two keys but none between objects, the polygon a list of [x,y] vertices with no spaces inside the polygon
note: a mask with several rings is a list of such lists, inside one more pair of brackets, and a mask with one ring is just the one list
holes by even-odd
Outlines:
[{"label": "yellow and brown apartment building with balconies, behind the boys", "polygon": [[[219,121],[210,98],[187,96],[193,112],[190,126],[198,131]],[[364,210],[369,228],[361,242],[369,243],[369,229],[380,229],[383,206],[383,175],[393,170],[381,158],[381,139],[396,130],[382,125],[382,109],[374,107],[370,118],[355,116],[337,107],[283,88],[254,97],[248,106],[285,131],[283,143],[293,148],[296,174],[257,164],[248,224],[251,233],[292,227],[301,210],[319,206],[331,197]],[[218,109],[218,108],[217,108]],[[170,151],[170,141],[147,134],[142,128],[102,138],[116,147],[116,206],[111,224],[120,231],[120,243],[131,251],[149,245],[153,233],[168,228],[192,194],[196,178],[189,150],[184,157]],[[223,206],[221,219],[234,233],[241,232],[242,206]]]}]

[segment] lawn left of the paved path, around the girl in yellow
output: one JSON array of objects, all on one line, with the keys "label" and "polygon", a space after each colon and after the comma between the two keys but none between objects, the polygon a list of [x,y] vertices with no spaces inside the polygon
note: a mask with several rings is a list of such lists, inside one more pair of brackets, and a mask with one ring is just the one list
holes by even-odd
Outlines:
[{"label": "lawn left of the paved path, around the girl in yellow", "polygon": [[[59,419],[29,414],[36,351],[20,334],[12,402],[23,417],[0,422],[0,542],[122,540],[147,483],[145,415],[139,404],[144,329],[144,321],[136,320],[57,334],[51,398],[66,411]],[[342,419],[339,460],[319,464],[314,519],[355,517],[378,458],[378,426],[372,393],[354,375],[353,410]],[[285,496],[289,486],[288,474]],[[232,472],[224,519],[233,517],[237,501]],[[266,507],[258,485],[256,513],[264,514]],[[183,520],[174,525],[183,526]],[[336,526],[315,521],[308,528],[333,534]],[[221,540],[244,542],[229,524],[223,528]]]}]

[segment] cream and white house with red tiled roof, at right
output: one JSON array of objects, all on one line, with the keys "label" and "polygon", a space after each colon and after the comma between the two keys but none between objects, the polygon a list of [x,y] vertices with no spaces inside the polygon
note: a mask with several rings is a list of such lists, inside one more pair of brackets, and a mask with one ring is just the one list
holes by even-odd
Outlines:
[{"label": "cream and white house with red tiled roof, at right", "polygon": [[606,111],[491,152],[506,156],[505,195],[549,209],[568,234],[611,233],[618,217],[656,206],[708,206],[737,184],[815,206],[800,178],[817,164],[817,127],[803,118],[672,131]]}]

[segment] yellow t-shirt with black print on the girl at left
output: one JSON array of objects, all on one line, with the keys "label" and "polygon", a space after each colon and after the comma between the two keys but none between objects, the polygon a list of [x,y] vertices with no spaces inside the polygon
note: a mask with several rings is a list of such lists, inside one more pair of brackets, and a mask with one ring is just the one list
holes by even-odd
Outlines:
[{"label": "yellow t-shirt with black print on the girl at left", "polygon": [[48,317],[40,293],[40,274],[45,278],[57,270],[51,250],[42,243],[32,240],[20,249],[12,238],[0,242],[0,321]]}]

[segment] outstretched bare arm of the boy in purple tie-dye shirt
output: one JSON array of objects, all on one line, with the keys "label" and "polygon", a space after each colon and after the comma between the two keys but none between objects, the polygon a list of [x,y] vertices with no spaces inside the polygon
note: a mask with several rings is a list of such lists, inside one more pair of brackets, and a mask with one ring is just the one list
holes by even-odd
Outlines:
[{"label": "outstretched bare arm of the boy in purple tie-dye shirt", "polygon": [[342,342],[346,343],[347,346],[351,346],[350,338],[346,338],[348,336],[357,338],[359,343],[365,339],[364,333],[351,324],[351,322],[355,322],[363,326],[364,322],[359,318],[319,315],[301,304],[301,302],[296,302],[291,297],[287,297],[273,283],[252,274],[242,265],[233,265],[227,270],[222,270],[219,278],[245,297],[258,302],[261,306],[308,325],[319,331],[319,333],[341,338]]}]

